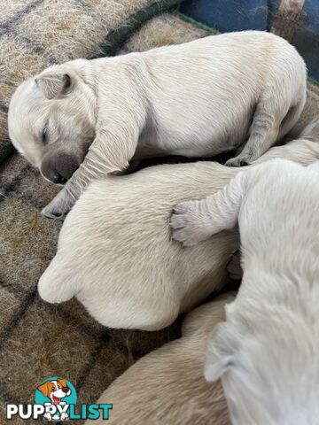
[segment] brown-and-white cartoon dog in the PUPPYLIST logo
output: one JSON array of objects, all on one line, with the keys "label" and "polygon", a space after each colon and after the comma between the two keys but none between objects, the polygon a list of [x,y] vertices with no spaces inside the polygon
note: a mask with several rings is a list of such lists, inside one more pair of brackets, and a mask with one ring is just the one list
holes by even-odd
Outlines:
[{"label": "brown-and-white cartoon dog in the PUPPYLIST logo", "polygon": [[[68,397],[72,392],[67,386],[66,380],[60,378],[42,383],[37,387],[37,390],[41,391],[44,397],[50,398],[51,400],[48,403],[44,403],[44,406],[65,406],[66,402],[61,400],[62,398]],[[44,414],[44,417],[48,421],[66,421],[66,419],[68,419],[68,414],[63,412],[60,416],[58,413],[52,416],[51,413],[48,412]]]}]

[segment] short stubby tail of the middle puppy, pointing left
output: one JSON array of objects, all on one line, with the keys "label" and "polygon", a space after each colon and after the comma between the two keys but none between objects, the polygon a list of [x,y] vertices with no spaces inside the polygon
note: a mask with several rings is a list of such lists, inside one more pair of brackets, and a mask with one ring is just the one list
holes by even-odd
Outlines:
[{"label": "short stubby tail of the middle puppy, pointing left", "polygon": [[52,259],[50,266],[45,270],[38,282],[38,292],[41,298],[48,303],[63,303],[76,295],[74,285],[74,271],[68,274],[67,266],[58,259],[59,254]]}]

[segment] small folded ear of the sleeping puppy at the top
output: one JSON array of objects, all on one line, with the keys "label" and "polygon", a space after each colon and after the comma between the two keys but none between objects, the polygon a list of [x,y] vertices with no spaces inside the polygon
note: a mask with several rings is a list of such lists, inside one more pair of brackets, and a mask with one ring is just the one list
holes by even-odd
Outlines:
[{"label": "small folded ear of the sleeping puppy at the top", "polygon": [[35,79],[47,99],[64,95],[71,87],[71,77],[68,73],[43,73]]}]

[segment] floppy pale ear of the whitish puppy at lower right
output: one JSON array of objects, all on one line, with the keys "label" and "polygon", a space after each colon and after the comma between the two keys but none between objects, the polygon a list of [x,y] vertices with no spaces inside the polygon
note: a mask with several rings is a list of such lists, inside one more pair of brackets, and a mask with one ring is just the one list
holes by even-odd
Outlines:
[{"label": "floppy pale ear of the whitish puppy at lower right", "polygon": [[223,322],[214,328],[206,353],[206,381],[217,381],[230,367],[236,367],[238,347],[239,338],[230,323]]}]

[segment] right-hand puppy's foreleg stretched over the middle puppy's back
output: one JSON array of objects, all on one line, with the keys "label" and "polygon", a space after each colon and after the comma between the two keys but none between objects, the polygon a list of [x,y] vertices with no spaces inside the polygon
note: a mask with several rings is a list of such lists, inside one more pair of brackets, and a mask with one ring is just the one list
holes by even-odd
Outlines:
[{"label": "right-hand puppy's foreleg stretched over the middle puppy's back", "polygon": [[245,196],[247,174],[237,174],[230,184],[210,197],[176,205],[170,220],[173,239],[191,246],[233,228]]}]

